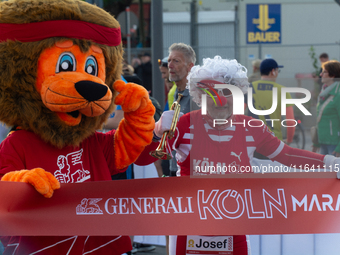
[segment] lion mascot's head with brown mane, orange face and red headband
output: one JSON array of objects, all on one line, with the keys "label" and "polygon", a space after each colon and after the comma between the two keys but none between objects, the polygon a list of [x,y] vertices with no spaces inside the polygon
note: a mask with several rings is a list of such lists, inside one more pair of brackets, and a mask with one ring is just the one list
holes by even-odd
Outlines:
[{"label": "lion mascot's head with brown mane, orange face and red headband", "polygon": [[123,49],[118,22],[81,0],[0,3],[0,121],[62,148],[114,110]]}]

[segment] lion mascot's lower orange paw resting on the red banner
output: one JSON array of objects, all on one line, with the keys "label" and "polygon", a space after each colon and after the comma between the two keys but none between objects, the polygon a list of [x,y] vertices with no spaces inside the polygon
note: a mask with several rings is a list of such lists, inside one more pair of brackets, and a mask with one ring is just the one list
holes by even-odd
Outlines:
[{"label": "lion mascot's lower orange paw resting on the red banner", "polygon": [[52,197],[53,191],[60,188],[58,180],[50,172],[42,168],[9,172],[5,174],[1,180],[29,183],[47,198]]}]

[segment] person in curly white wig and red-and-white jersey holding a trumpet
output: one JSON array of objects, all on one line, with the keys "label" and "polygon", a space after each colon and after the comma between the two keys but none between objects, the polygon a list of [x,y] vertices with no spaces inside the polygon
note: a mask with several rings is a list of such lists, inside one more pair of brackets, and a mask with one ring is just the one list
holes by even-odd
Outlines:
[{"label": "person in curly white wig and red-and-white jersey holding a trumpet", "polygon": [[[275,137],[266,125],[260,125],[261,120],[245,115],[234,115],[233,100],[243,98],[236,98],[231,90],[216,88],[215,84],[235,85],[243,93],[247,92],[249,86],[247,69],[236,60],[222,59],[220,56],[204,59],[202,66],[194,66],[191,69],[187,79],[190,95],[197,104],[201,106],[203,95],[206,95],[204,97],[207,98],[207,114],[197,110],[183,115],[178,121],[174,138],[169,139],[169,145],[177,151],[176,159],[180,166],[178,175],[247,173],[246,169],[251,170],[255,149],[271,160],[288,166],[313,165],[318,169],[323,168],[323,165],[332,165],[334,169],[335,163],[340,162],[340,159],[334,156],[291,148]],[[154,138],[170,129],[172,117],[173,111],[162,114],[156,123]],[[217,124],[214,119],[225,121]],[[155,161],[155,158],[149,156],[149,152],[155,150],[157,146],[157,141],[151,143],[135,163],[145,165]],[[219,168],[224,170],[209,172],[207,166],[214,166],[214,169],[220,166]],[[192,246],[192,240],[192,236],[170,237],[170,255],[190,253],[187,251]],[[202,243],[208,240],[215,243],[232,240],[232,246],[226,246],[218,251],[225,253],[232,251],[233,255],[246,255],[249,250],[245,235],[199,236],[196,240],[202,240]],[[202,247],[201,253],[203,250]]]}]

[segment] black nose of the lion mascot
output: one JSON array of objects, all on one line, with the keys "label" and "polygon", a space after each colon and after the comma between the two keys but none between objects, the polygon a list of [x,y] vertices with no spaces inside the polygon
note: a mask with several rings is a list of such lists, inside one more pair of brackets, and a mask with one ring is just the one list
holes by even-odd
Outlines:
[{"label": "black nose of the lion mascot", "polygon": [[101,99],[108,90],[107,86],[93,81],[78,81],[75,84],[75,88],[89,102]]}]

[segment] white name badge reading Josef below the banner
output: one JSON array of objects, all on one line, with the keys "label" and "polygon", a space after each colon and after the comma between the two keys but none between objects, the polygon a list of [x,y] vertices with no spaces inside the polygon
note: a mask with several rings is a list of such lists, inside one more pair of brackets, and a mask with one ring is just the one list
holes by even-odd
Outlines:
[{"label": "white name badge reading Josef below the banner", "polygon": [[186,254],[232,255],[232,236],[187,236]]}]

